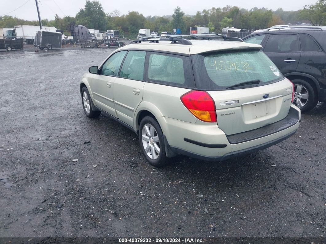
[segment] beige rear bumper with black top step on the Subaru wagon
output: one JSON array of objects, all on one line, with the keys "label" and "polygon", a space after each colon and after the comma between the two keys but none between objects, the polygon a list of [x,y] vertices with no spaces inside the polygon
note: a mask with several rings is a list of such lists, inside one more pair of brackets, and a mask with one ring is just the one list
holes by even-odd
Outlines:
[{"label": "beige rear bumper with black top step on the Subaru wagon", "polygon": [[213,123],[187,123],[165,117],[157,117],[157,120],[165,125],[163,133],[174,153],[222,161],[268,148],[289,138],[299,127],[300,110],[291,105],[283,120],[229,136]]}]

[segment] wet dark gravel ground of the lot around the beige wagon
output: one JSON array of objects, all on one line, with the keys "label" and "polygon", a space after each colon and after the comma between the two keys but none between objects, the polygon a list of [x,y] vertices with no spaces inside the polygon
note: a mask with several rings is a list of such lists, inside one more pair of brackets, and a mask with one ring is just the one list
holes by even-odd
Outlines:
[{"label": "wet dark gravel ground of the lot around the beige wagon", "polygon": [[268,149],[155,168],[84,115],[79,81],[112,50],[0,52],[0,237],[326,236],[325,103]]}]

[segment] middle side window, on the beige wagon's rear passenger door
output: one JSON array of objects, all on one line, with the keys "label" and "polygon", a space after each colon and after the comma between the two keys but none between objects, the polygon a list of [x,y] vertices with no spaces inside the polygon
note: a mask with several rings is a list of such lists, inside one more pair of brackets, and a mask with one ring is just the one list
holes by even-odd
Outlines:
[{"label": "middle side window, on the beige wagon's rear passenger door", "polygon": [[129,51],[119,76],[128,79],[143,80],[145,56],[145,51]]}]

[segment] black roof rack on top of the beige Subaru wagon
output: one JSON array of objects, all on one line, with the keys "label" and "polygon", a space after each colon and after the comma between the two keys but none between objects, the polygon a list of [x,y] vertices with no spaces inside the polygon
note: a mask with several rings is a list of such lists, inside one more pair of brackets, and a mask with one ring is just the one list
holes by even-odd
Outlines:
[{"label": "black roof rack on top of the beige Subaru wagon", "polygon": [[159,41],[171,41],[171,43],[175,44],[183,44],[183,45],[192,45],[189,39],[200,39],[200,40],[211,40],[217,38],[223,38],[225,41],[241,41],[243,40],[234,36],[226,36],[219,34],[199,34],[199,35],[178,35],[178,36],[165,36],[166,38],[160,38],[160,36],[147,36],[137,40],[131,40],[127,45],[132,43],[141,43],[142,41],[149,40],[151,43],[158,43]]}]

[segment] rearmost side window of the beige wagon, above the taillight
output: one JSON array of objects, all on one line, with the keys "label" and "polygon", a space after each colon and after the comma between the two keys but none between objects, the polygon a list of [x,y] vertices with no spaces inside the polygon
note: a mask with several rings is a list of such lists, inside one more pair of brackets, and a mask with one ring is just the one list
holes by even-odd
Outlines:
[{"label": "rearmost side window of the beige wagon, above the taillight", "polygon": [[149,52],[147,80],[171,86],[194,88],[190,57]]}]

